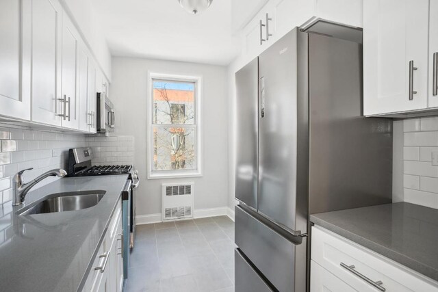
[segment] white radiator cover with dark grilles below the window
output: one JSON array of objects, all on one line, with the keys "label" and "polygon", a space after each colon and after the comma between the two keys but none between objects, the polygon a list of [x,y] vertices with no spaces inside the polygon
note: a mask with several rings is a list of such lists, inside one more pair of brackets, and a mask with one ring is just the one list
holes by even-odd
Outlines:
[{"label": "white radiator cover with dark grilles below the window", "polygon": [[163,221],[193,217],[194,183],[163,183]]}]

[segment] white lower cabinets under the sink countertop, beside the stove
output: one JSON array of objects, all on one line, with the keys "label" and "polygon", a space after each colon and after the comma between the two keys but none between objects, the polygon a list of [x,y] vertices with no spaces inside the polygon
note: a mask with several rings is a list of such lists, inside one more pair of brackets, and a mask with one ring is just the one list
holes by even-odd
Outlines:
[{"label": "white lower cabinets under the sink countertop, beside the stove", "polygon": [[120,202],[94,259],[83,292],[120,292],[123,290],[121,236],[122,206]]}]

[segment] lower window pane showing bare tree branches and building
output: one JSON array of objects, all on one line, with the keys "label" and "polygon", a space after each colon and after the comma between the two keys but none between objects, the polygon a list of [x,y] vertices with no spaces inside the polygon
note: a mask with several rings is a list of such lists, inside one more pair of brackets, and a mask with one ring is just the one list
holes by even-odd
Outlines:
[{"label": "lower window pane showing bare tree branches and building", "polygon": [[196,129],[153,127],[154,170],[194,170]]}]

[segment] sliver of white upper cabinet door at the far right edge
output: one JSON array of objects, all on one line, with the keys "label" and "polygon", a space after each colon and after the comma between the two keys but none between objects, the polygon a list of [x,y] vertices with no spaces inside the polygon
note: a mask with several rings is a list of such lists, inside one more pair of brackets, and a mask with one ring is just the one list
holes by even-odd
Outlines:
[{"label": "sliver of white upper cabinet door at the far right edge", "polygon": [[438,107],[438,0],[430,0],[429,18],[428,107]]}]

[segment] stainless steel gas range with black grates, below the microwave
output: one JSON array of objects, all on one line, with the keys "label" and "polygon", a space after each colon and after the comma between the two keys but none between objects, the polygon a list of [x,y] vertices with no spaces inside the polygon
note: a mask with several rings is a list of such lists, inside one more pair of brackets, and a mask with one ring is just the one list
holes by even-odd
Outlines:
[{"label": "stainless steel gas range with black grates, below the microwave", "polygon": [[68,150],[68,176],[100,176],[127,174],[127,183],[122,192],[123,218],[123,267],[128,277],[129,254],[136,235],[136,196],[134,189],[140,183],[138,172],[133,165],[92,165],[92,149],[89,147]]}]

